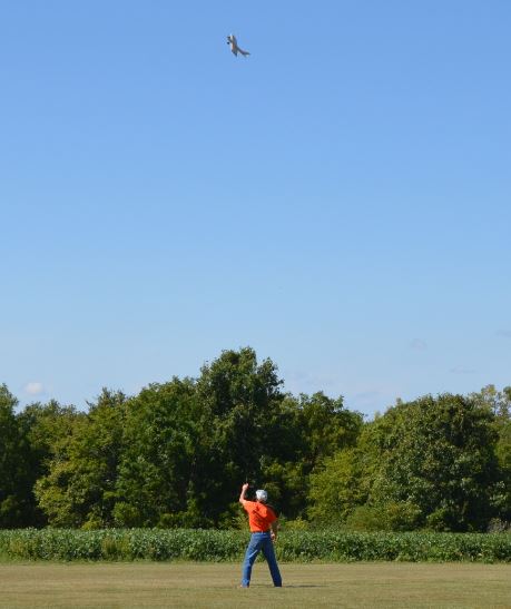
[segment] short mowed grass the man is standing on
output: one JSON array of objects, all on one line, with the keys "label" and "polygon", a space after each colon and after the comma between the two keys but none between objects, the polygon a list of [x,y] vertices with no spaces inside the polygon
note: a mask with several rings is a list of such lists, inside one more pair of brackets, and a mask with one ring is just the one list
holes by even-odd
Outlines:
[{"label": "short mowed grass the man is standing on", "polygon": [[0,607],[511,608],[511,566],[281,564],[273,588],[256,563],[240,589],[235,563],[3,563]]}]

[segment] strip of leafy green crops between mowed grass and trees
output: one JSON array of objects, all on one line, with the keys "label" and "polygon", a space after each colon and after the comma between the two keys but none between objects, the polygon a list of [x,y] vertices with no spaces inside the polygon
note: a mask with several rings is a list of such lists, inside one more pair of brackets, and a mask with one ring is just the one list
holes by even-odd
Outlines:
[{"label": "strip of leafy green crops between mowed grass and trees", "polygon": [[[190,529],[0,530],[0,557],[13,560],[161,560],[236,562],[247,531]],[[286,531],[283,562],[511,562],[511,534]]]}]

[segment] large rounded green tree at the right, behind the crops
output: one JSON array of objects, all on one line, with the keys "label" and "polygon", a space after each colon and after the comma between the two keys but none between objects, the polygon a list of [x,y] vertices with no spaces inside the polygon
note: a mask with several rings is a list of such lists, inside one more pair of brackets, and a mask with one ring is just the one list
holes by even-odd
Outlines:
[{"label": "large rounded green tree at the right, behind the crops", "polygon": [[494,414],[461,395],[400,403],[371,425],[379,460],[370,502],[420,513],[435,530],[484,530],[498,481]]}]

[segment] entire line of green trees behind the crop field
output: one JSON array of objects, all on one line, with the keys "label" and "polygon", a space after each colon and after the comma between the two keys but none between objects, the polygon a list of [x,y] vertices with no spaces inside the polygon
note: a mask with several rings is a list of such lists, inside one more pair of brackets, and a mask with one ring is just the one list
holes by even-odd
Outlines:
[{"label": "entire line of green trees behind the crop field", "polygon": [[487,531],[511,521],[511,387],[397,402],[372,421],[323,392],[283,391],[250,347],[197,379],[88,411],[17,412],[0,386],[0,528],[233,528],[239,484],[294,527]]}]

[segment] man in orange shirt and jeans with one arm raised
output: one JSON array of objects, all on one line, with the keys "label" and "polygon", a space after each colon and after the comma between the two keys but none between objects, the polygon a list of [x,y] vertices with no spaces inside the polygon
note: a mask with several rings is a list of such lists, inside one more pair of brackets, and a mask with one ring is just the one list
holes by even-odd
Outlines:
[{"label": "man in orange shirt and jeans with one arm raised", "polygon": [[273,549],[273,543],[277,539],[277,517],[272,508],[266,505],[268,501],[268,493],[266,491],[256,491],[256,501],[247,501],[245,499],[247,489],[248,483],[245,483],[239,494],[239,503],[248,512],[248,524],[252,532],[243,562],[242,588],[250,586],[252,567],[261,551],[263,551],[268,563],[273,585],[281,588],[281,571],[278,570],[277,559]]}]

